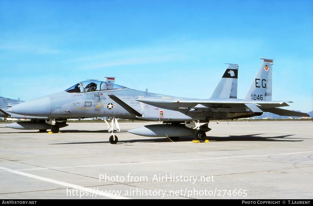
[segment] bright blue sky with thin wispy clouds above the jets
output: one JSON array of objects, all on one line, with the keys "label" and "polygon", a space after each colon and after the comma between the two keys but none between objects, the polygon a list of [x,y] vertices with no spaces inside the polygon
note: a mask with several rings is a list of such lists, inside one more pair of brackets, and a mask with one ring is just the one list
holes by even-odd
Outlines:
[{"label": "bright blue sky with thin wispy clouds above the jets", "polygon": [[239,64],[238,98],[264,56],[273,100],[313,110],[312,1],[0,0],[0,96],[30,100],[86,79],[209,98]]}]

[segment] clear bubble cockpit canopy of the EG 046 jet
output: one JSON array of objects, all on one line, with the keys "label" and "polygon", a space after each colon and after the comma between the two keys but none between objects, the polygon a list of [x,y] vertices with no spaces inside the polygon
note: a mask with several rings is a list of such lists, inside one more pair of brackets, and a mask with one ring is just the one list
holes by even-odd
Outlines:
[{"label": "clear bubble cockpit canopy of the EG 046 jet", "polygon": [[110,89],[123,89],[123,88],[126,88],[126,87],[123,87],[117,84],[90,80],[90,81],[83,81],[78,84],[75,84],[74,86],[70,87],[69,89],[66,89],[65,91],[68,93],[83,93],[83,92],[95,92],[95,91],[110,90]]}]

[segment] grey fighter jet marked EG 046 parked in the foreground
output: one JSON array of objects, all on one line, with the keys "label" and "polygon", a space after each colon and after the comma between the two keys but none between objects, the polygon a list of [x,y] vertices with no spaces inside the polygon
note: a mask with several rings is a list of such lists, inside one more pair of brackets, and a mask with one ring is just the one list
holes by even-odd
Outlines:
[{"label": "grey fighter jet marked EG 046 parked in the foreground", "polygon": [[59,132],[57,117],[112,117],[112,125],[109,125],[111,144],[118,142],[114,134],[117,118],[163,122],[128,131],[136,135],[171,139],[193,135],[196,140],[205,141],[206,132],[211,130],[208,127],[210,120],[254,117],[263,112],[309,117],[306,113],[278,108],[289,106],[287,103],[292,103],[290,101],[271,101],[273,60],[260,59],[263,60],[262,65],[244,99],[236,98],[238,67],[230,64],[231,68],[224,73],[222,83],[219,83],[220,86],[209,99],[173,97],[90,80],[75,84],[60,93],[20,103],[6,111],[47,116],[52,120],[53,132]]}]

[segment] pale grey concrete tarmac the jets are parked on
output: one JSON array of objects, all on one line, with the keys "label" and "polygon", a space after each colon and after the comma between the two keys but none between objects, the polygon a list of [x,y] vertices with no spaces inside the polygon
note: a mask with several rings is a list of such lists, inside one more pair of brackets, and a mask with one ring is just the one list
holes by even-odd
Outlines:
[{"label": "pale grey concrete tarmac the jets are parked on", "polygon": [[[229,125],[228,125],[229,123]],[[141,137],[120,123],[59,134],[0,124],[0,199],[312,199],[313,122],[210,122],[209,143]]]}]

